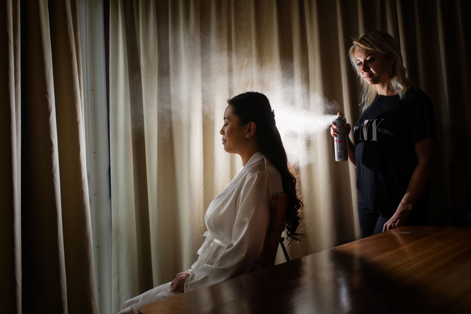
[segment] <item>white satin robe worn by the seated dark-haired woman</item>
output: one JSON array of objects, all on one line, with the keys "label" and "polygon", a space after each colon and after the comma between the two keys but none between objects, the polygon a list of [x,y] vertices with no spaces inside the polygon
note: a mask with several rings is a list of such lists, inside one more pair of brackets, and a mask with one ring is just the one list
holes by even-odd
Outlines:
[{"label": "white satin robe worn by the seated dark-haired woman", "polygon": [[[278,170],[262,153],[255,153],[212,201],[204,215],[208,231],[185,282],[190,291],[250,272],[257,263],[270,220],[269,204],[283,193]],[[170,282],[126,302],[129,313],[138,313],[145,304],[166,298]],[[122,313],[128,313],[123,311]]]}]

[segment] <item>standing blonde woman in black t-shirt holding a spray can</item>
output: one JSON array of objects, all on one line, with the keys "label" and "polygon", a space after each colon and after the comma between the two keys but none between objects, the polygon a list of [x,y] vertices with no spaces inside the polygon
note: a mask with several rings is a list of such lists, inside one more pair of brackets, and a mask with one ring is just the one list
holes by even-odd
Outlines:
[{"label": "standing blonde woman in black t-shirt holding a spray can", "polygon": [[[423,225],[436,141],[430,99],[406,78],[399,46],[387,32],[353,40],[349,57],[363,88],[355,143],[348,140],[349,161],[357,167],[362,237]],[[331,134],[337,136],[333,127]]]}]

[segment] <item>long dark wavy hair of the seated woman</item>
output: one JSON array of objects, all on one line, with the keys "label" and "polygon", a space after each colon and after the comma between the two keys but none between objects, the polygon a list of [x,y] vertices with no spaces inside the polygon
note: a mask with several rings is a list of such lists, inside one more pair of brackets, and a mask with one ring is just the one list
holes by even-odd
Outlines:
[{"label": "long dark wavy hair of the seated woman", "polygon": [[280,132],[276,128],[275,114],[271,110],[268,98],[261,93],[249,91],[230,98],[227,104],[231,105],[232,113],[237,116],[240,125],[251,121],[257,125],[255,135],[259,141],[261,153],[280,172],[283,191],[288,194],[285,225],[287,237],[299,242],[303,234],[296,233],[296,229],[303,221],[298,216],[303,204],[298,198],[296,177],[290,171]]}]

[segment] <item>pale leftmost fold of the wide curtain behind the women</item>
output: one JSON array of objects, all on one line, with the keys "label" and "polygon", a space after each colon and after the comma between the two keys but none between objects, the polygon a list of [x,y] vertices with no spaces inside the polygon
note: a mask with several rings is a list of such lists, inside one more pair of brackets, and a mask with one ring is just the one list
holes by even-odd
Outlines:
[{"label": "pale leftmost fold of the wide curtain behind the women", "polygon": [[[110,1],[110,4],[113,4]],[[113,241],[112,252],[116,263],[113,263],[113,295],[122,294],[124,291],[136,291],[142,289],[138,286],[138,264],[136,249],[136,216],[134,214],[134,187],[132,167],[132,141],[129,105],[129,75],[128,58],[126,47],[126,36],[124,28],[124,16],[122,13],[122,2],[116,3],[120,10],[114,11],[110,6],[110,162],[111,162],[111,195],[113,215]],[[117,9],[117,8],[116,8]],[[113,69],[113,71],[111,70]],[[114,86],[118,89],[111,90]],[[116,121],[120,121],[119,128],[114,129]],[[111,136],[114,134],[114,136]],[[119,139],[119,140],[118,140]],[[113,152],[113,153],[111,153]],[[122,177],[120,180],[115,172],[114,166],[120,161]],[[115,176],[116,174],[116,176]],[[119,192],[118,192],[119,191]],[[116,194],[115,194],[116,193]],[[118,210],[123,209],[129,210]],[[117,250],[120,248],[120,250]],[[128,257],[128,258],[126,258]],[[124,267],[121,263],[124,263]],[[123,271],[121,268],[127,268]],[[126,284],[122,284],[126,282]],[[113,312],[118,312],[119,306],[113,306]]]}]

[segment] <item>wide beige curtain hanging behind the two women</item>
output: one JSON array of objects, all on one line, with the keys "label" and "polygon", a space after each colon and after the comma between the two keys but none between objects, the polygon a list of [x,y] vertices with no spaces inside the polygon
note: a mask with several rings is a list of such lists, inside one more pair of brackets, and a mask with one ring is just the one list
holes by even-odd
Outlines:
[{"label": "wide beige curtain hanging behind the two women", "polygon": [[447,163],[470,153],[456,131],[471,144],[462,120],[471,110],[463,3],[111,1],[114,311],[197,258],[204,212],[241,167],[220,145],[226,100],[249,89],[270,99],[300,178],[306,238],[290,256],[359,237],[355,168],[334,161],[326,119],[360,115],[347,51],[365,30],[398,40],[410,78],[432,99],[439,139],[430,223],[449,221]]}]

